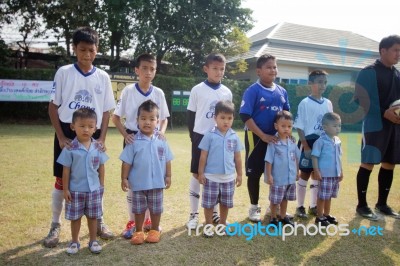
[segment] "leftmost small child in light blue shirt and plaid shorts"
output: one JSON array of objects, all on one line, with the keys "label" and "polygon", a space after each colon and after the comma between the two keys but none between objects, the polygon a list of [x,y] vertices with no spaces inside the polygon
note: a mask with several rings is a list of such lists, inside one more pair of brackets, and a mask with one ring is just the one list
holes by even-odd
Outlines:
[{"label": "leftmost small child in light blue shirt and plaid shorts", "polygon": [[89,249],[100,253],[96,240],[97,219],[103,215],[101,200],[104,193],[104,163],[108,156],[92,138],[96,131],[97,115],[89,108],[76,110],[72,115],[71,129],[76,138],[65,147],[57,162],[63,166],[62,181],[65,199],[65,219],[71,220],[72,241],[68,254],[79,251],[81,218],[86,215],[89,227]]}]

